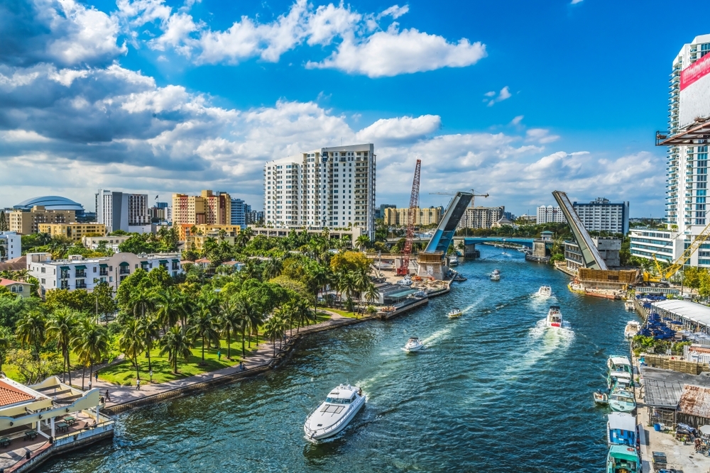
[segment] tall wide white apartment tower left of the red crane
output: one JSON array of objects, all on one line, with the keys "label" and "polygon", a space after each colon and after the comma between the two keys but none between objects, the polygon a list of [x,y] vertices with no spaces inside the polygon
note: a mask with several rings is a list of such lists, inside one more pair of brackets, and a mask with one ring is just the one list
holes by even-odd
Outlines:
[{"label": "tall wide white apartment tower left of the red crane", "polygon": [[320,148],[264,165],[264,221],[276,228],[358,226],[374,238],[372,143]]}]

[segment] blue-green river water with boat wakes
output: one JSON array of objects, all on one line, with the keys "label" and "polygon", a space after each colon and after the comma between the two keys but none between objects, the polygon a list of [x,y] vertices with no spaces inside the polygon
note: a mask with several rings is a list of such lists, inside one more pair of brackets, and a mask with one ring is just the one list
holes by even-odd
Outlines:
[{"label": "blue-green river water with boat wakes", "polygon": [[[48,472],[599,472],[606,460],[606,357],[626,353],[619,301],[579,296],[523,254],[479,246],[447,296],[392,321],[302,340],[266,376],[117,416],[112,442],[52,460]],[[501,269],[500,282],[488,274]],[[553,296],[532,295],[542,284]],[[547,330],[550,304],[569,330]],[[464,308],[450,321],[452,306]],[[428,349],[400,350],[410,335]],[[341,382],[368,402],[332,440],[305,440],[306,416]]]}]

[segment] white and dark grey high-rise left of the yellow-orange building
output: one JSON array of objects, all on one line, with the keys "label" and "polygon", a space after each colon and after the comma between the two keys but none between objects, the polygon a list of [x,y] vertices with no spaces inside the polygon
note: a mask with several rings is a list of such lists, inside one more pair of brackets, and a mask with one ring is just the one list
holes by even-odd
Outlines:
[{"label": "white and dark grey high-rise left of the yellow-orange building", "polygon": [[95,194],[96,221],[106,226],[107,232],[124,230],[131,233],[150,233],[148,194],[99,189]]}]

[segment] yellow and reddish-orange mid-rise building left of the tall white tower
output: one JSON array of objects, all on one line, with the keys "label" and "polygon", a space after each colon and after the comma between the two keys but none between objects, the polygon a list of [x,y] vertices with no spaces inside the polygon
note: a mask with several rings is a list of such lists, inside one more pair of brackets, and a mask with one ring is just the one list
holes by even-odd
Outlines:
[{"label": "yellow and reddish-orange mid-rise building left of the tall white tower", "polygon": [[231,197],[202,191],[199,196],[173,194],[173,225],[231,225]]}]

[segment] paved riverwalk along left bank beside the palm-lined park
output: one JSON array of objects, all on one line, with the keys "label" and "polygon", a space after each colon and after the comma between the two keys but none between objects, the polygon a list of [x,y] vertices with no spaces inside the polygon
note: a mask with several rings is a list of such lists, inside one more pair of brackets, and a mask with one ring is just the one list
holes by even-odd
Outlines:
[{"label": "paved riverwalk along left bank beside the palm-lined park", "polygon": [[[320,310],[324,311],[323,309]],[[339,313],[331,311],[324,312],[327,312],[330,316],[327,321],[322,321],[314,325],[308,325],[307,327],[300,328],[298,333],[293,333],[294,338],[297,335],[300,336],[305,335],[307,333],[320,332],[322,330],[327,330],[328,328],[334,328],[340,325],[349,325],[351,323],[356,322],[356,319],[344,317]],[[368,318],[369,317],[363,317],[360,318],[358,321],[367,320]],[[278,353],[278,351],[279,350],[277,347],[276,352]],[[235,377],[238,373],[244,373],[244,376],[249,376],[249,374],[253,373],[254,371],[266,368],[269,363],[274,360],[273,354],[273,345],[271,345],[271,343],[269,343],[268,341],[264,341],[263,343],[259,344],[258,348],[256,348],[255,351],[251,352],[244,358],[244,371],[241,369],[241,367],[239,367],[239,364],[237,363],[236,365],[231,367],[217,369],[212,372],[195,374],[195,376],[186,377],[183,379],[175,379],[174,381],[164,383],[151,383],[149,382],[148,374],[143,373],[141,375],[140,390],[136,389],[135,383],[133,383],[133,386],[121,386],[118,384],[104,382],[101,379],[99,379],[98,382],[92,379],[92,389],[101,389],[102,395],[104,395],[106,390],[108,390],[109,398],[111,399],[111,401],[108,401],[105,404],[104,408],[108,408],[109,411],[121,411],[123,410],[123,407],[132,407],[132,405],[145,404],[146,402],[150,402],[151,399],[148,398],[153,398],[156,401],[158,399],[162,399],[164,396],[161,395],[168,394],[170,393],[170,391],[180,391],[181,389],[185,389],[189,386],[202,383],[218,384],[220,379]],[[79,380],[80,382],[80,371],[72,373],[72,381],[74,381],[75,379]],[[77,384],[77,382],[74,381],[72,384]],[[87,384],[84,384],[84,386],[87,385],[88,382]]]}]

